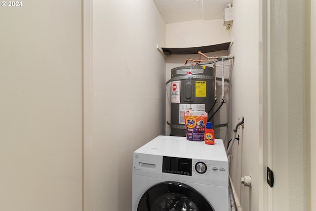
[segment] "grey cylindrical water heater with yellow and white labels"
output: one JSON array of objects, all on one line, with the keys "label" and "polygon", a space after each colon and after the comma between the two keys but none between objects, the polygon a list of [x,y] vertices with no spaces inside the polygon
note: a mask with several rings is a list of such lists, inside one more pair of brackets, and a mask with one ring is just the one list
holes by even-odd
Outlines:
[{"label": "grey cylindrical water heater with yellow and white labels", "polygon": [[172,136],[186,136],[184,112],[212,113],[214,102],[214,69],[208,66],[182,66],[171,69]]}]

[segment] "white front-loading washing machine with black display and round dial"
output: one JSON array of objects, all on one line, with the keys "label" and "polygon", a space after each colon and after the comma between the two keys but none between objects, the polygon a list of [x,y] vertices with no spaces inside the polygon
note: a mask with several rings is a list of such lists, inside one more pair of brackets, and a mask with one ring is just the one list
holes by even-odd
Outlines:
[{"label": "white front-loading washing machine with black display and round dial", "polygon": [[228,178],[221,139],[158,136],[133,154],[132,211],[228,211]]}]

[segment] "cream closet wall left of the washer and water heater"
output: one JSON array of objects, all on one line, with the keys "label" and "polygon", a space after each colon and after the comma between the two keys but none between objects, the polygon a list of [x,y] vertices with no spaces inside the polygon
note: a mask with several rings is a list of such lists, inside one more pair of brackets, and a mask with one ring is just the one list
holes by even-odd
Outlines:
[{"label": "cream closet wall left of the washer and water heater", "polygon": [[94,211],[128,211],[132,154],[165,133],[165,24],[153,1],[93,1]]}]

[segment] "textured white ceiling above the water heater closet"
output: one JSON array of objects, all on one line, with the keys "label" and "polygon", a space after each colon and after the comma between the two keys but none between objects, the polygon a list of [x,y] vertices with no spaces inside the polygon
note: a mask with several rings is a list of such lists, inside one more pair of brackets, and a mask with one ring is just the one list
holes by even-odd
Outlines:
[{"label": "textured white ceiling above the water heater closet", "polygon": [[224,17],[229,0],[153,0],[165,23]]}]

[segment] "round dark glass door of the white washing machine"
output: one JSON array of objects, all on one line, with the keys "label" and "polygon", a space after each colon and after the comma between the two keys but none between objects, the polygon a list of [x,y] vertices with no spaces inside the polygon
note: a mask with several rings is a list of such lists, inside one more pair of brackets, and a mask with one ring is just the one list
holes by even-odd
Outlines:
[{"label": "round dark glass door of the white washing machine", "polygon": [[162,182],[148,189],[137,211],[214,211],[194,188],[179,182]]}]

